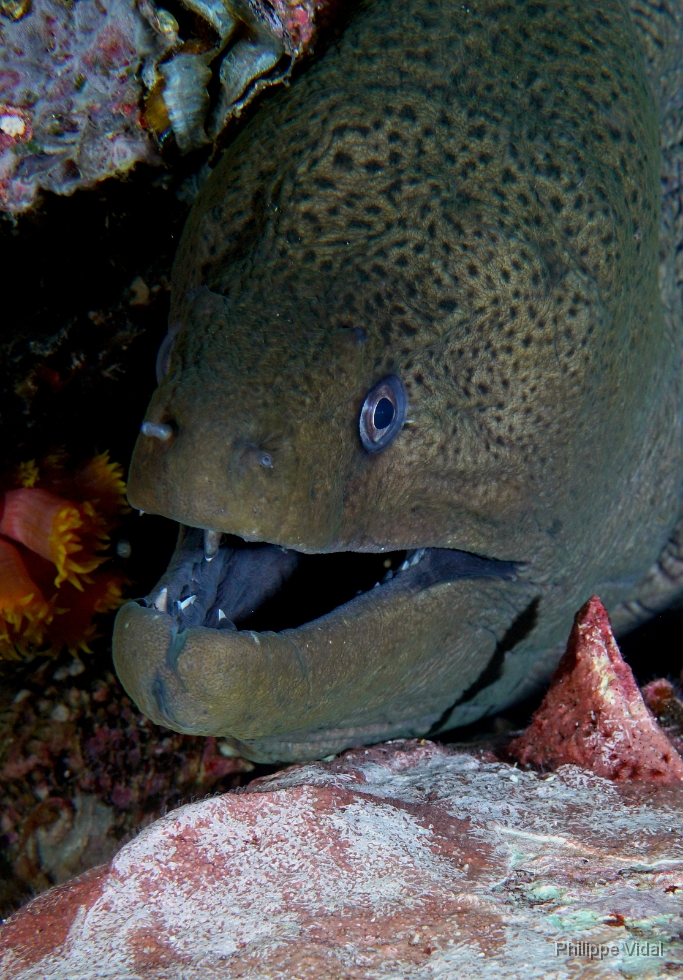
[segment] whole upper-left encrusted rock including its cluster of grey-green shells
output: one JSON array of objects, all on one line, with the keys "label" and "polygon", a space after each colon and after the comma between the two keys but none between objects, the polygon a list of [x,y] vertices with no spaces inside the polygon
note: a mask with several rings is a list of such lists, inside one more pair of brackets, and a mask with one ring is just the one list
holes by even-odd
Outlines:
[{"label": "whole upper-left encrusted rock including its cluster of grey-green shells", "polygon": [[159,165],[169,144],[188,153],[216,143],[260,91],[289,78],[330,3],[173,6],[0,5],[0,211]]}]

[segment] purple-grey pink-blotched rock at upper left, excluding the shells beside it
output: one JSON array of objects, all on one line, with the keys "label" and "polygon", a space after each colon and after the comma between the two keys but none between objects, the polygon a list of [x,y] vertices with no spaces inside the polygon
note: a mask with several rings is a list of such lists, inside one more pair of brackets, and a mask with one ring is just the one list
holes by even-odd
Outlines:
[{"label": "purple-grey pink-blotched rock at upper left, excluding the shells beside it", "polygon": [[2,23],[0,209],[157,160],[136,71],[155,41],[130,0],[34,0]]}]

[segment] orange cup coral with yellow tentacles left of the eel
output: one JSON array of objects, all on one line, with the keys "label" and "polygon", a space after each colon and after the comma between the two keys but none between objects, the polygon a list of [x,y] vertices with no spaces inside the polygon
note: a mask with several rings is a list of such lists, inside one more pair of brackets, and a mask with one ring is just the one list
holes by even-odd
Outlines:
[{"label": "orange cup coral with yellow tentacles left of the eel", "polygon": [[125,583],[121,571],[100,569],[128,509],[121,467],[103,453],[67,469],[58,452],[40,466],[21,463],[10,480],[0,512],[0,658],[90,652],[93,618],[121,604]]}]

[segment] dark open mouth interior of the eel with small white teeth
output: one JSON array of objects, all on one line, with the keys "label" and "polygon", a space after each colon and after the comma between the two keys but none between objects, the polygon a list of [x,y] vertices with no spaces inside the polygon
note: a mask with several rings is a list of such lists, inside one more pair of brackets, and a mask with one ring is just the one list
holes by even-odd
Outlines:
[{"label": "dark open mouth interior of the eel with small white teeth", "polygon": [[280,632],[334,613],[372,589],[389,598],[453,579],[511,579],[516,567],[448,548],[302,554],[181,525],[166,574],[140,601],[168,613],[181,631]]}]

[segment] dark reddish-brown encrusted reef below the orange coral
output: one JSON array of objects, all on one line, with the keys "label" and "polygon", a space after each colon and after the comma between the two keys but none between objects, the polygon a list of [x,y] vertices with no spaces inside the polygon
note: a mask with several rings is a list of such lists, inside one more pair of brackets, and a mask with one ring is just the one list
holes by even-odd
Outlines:
[{"label": "dark reddish-brown encrusted reef below the orange coral", "polygon": [[31,667],[21,687],[0,695],[0,914],[108,861],[180,803],[241,785],[254,768],[215,738],[153,725],[100,649]]}]

